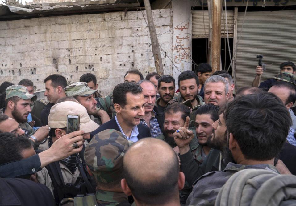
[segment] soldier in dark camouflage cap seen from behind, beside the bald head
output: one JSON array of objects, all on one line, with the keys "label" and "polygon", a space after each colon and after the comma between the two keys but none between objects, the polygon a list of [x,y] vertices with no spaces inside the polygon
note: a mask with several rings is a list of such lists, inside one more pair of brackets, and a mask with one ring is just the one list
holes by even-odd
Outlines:
[{"label": "soldier in dark camouflage cap seen from behind, beside the bald head", "polygon": [[123,156],[130,143],[121,132],[107,129],[94,135],[84,151],[85,162],[97,182],[100,206],[131,205],[120,187]]}]

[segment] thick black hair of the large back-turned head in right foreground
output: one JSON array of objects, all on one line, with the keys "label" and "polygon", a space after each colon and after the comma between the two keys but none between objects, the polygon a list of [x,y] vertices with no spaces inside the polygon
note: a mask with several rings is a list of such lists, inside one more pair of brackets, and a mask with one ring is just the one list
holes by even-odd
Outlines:
[{"label": "thick black hair of the large back-turned head in right foreground", "polygon": [[282,101],[270,92],[236,97],[223,116],[244,157],[259,161],[279,154],[292,124]]}]

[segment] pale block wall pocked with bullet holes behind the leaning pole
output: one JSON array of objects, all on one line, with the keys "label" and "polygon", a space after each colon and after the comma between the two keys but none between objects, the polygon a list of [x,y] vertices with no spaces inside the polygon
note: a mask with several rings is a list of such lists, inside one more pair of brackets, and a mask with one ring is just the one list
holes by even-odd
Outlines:
[{"label": "pale block wall pocked with bullet holes behind the leaning pole", "polygon": [[[172,74],[172,10],[153,10],[153,17],[161,34],[164,73]],[[2,21],[0,83],[17,84],[26,78],[36,89],[44,89],[48,75],[58,73],[73,83],[90,72],[107,95],[129,69],[139,69],[144,77],[156,71],[150,44],[141,11],[126,16],[114,12]]]}]

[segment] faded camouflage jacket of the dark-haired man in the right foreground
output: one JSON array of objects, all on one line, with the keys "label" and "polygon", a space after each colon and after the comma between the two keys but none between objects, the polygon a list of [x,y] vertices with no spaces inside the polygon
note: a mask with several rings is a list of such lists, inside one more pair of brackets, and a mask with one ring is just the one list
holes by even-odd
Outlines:
[{"label": "faded camouflage jacket of the dark-haired man in the right foreground", "polygon": [[201,176],[194,185],[186,205],[215,205],[217,195],[226,181],[231,175],[243,169],[266,169],[279,173],[276,167],[269,164],[242,165],[230,162],[223,172],[208,172]]}]

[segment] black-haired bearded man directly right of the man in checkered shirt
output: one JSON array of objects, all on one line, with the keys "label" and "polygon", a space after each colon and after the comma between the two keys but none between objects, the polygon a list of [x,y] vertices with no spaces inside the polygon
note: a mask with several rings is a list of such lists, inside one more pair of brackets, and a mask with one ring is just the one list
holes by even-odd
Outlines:
[{"label": "black-haired bearded man directly right of the man in checkered shirt", "polygon": [[173,99],[175,94],[175,79],[171,75],[163,75],[158,79],[159,98],[156,99],[155,106],[157,107],[159,116],[163,117],[165,108],[171,103],[176,102]]}]

